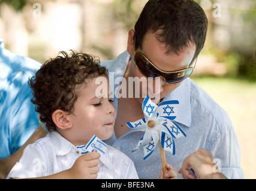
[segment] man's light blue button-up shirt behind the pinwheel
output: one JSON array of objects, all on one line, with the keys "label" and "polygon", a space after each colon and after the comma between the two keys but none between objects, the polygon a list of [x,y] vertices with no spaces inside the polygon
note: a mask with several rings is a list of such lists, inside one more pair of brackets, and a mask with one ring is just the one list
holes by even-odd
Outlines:
[{"label": "man's light blue button-up shirt behind the pinwheel", "polygon": [[[117,112],[116,93],[118,93],[119,83],[115,80],[124,76],[129,59],[130,56],[125,51],[115,60],[101,61],[101,65],[111,72],[110,88],[112,92],[115,92],[114,104]],[[113,82],[115,82],[114,85]],[[176,155],[165,152],[167,163],[172,165],[174,171],[179,171],[183,159],[188,155],[205,148],[212,152],[218,167],[221,167],[221,172],[227,178],[243,178],[243,170],[240,168],[239,141],[230,117],[204,90],[188,78],[176,90],[165,96],[164,100],[179,101],[179,114],[174,121],[186,134],[186,137],[175,140]],[[135,128],[116,139],[114,133],[109,140],[106,140],[106,143],[120,149],[132,159],[140,178],[158,178],[162,168],[159,148],[156,147],[146,160],[143,160],[142,147],[132,152],[143,134],[144,132]],[[182,178],[182,176],[177,174],[177,178]]]}]

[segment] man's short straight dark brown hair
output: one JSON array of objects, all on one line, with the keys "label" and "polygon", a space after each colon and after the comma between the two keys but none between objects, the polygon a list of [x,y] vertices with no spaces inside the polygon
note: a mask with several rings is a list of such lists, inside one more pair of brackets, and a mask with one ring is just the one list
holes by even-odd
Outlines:
[{"label": "man's short straight dark brown hair", "polygon": [[157,31],[156,38],[165,44],[167,53],[179,54],[192,42],[195,58],[204,47],[207,24],[206,14],[194,1],[149,0],[134,27],[135,49],[143,48],[147,32]]}]

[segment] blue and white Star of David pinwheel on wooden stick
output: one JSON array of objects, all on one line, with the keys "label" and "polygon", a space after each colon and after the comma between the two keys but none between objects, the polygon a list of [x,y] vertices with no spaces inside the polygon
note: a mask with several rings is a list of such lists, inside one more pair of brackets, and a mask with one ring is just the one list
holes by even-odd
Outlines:
[{"label": "blue and white Star of David pinwheel on wooden stick", "polygon": [[175,155],[174,138],[186,137],[184,131],[173,121],[177,116],[178,104],[177,100],[167,100],[157,106],[147,96],[142,103],[144,118],[135,122],[127,122],[129,128],[138,128],[145,132],[132,152],[143,147],[143,159],[145,160],[159,143],[163,170],[165,170],[166,164],[164,150]]}]

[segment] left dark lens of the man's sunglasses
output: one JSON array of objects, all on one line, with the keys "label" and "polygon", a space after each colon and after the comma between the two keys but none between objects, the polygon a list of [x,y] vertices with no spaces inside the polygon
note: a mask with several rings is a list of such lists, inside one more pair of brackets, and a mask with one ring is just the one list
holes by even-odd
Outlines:
[{"label": "left dark lens of the man's sunglasses", "polygon": [[159,71],[155,69],[155,67],[152,66],[152,64],[149,63],[149,61],[146,60],[146,58],[143,57],[142,54],[136,53],[134,56],[135,64],[137,64],[138,69],[141,73],[143,73],[146,77],[152,77],[155,78],[156,76],[159,76]]}]

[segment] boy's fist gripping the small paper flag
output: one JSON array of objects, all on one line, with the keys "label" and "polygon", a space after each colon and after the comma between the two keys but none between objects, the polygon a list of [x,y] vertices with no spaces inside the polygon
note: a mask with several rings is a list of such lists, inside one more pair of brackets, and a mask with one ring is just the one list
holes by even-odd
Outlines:
[{"label": "boy's fist gripping the small paper flag", "polygon": [[97,173],[100,170],[98,167],[98,158],[100,158],[100,154],[97,152],[90,152],[80,156],[77,158],[73,167],[67,170],[68,176],[74,179],[97,178]]}]

